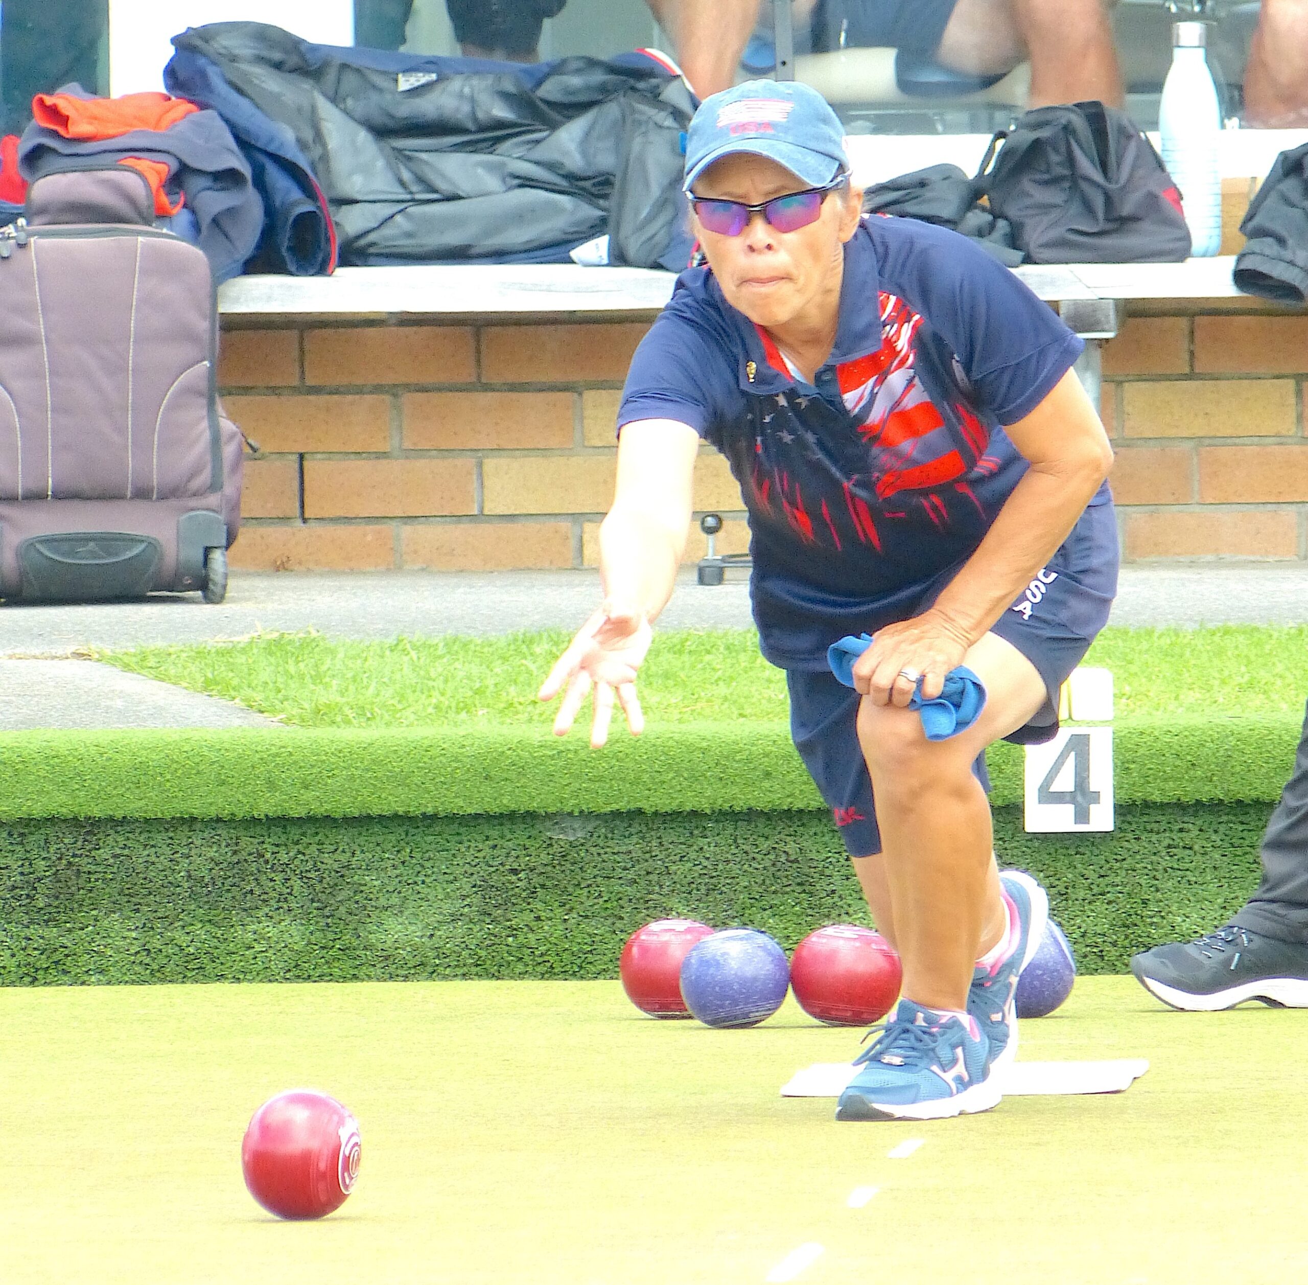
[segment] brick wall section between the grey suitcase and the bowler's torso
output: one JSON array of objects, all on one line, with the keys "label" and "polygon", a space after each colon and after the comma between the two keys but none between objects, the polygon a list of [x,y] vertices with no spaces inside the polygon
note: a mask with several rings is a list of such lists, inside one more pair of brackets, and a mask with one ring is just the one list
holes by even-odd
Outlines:
[{"label": "brick wall section between the grey suitcase and the bowler's torso", "polygon": [[[246,461],[234,567],[509,569],[594,561],[617,393],[644,323],[224,327]],[[740,496],[705,450],[697,513]],[[695,529],[688,557],[698,557]]]}]

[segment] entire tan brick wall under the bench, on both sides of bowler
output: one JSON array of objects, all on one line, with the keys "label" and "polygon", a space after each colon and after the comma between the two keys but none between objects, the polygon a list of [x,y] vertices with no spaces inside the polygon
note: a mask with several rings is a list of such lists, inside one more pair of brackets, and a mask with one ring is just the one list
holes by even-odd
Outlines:
[{"label": "entire tan brick wall under the bench, on both sides of bowler", "polygon": [[[224,400],[262,449],[233,565],[594,565],[644,331],[226,325]],[[1244,301],[1131,315],[1104,376],[1129,559],[1308,557],[1308,315]],[[744,548],[739,491],[709,450],[695,508],[726,517],[719,548]],[[687,557],[702,544],[696,525]]]}]

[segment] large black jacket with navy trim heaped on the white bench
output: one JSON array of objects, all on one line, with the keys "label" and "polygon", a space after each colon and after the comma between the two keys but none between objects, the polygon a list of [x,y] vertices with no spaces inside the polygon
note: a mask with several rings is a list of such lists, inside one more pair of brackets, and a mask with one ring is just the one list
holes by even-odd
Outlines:
[{"label": "large black jacket with navy trim heaped on the white bench", "polygon": [[[173,43],[173,93],[293,164],[305,199],[317,177],[341,263],[551,262],[603,234],[615,263],[687,262],[695,99],[653,56],[522,65],[311,44],[259,22]],[[283,199],[263,191],[276,219]]]}]

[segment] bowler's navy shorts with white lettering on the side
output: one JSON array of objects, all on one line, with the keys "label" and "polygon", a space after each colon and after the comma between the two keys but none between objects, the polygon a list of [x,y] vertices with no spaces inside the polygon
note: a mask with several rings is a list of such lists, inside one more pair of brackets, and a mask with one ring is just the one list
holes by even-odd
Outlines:
[{"label": "bowler's navy shorts with white lettering on the side", "polygon": [[[917,608],[925,611],[952,578],[933,582]],[[1050,739],[1058,731],[1058,690],[1080,663],[1095,635],[1108,620],[1117,593],[1117,518],[1113,505],[1095,504],[1073,527],[1048,565],[1016,602],[990,627],[1011,642],[1045,682],[1045,704],[1006,741],[1019,745]],[[790,688],[790,734],[823,800],[840,827],[845,848],[863,857],[882,851],[872,803],[872,783],[858,745],[862,696],[829,670],[786,670]],[[989,789],[985,755],[976,768]]]}]

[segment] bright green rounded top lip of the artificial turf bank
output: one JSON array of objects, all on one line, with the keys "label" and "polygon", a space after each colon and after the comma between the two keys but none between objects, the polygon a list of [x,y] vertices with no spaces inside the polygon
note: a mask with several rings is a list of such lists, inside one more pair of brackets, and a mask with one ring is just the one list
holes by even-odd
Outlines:
[{"label": "bright green rounded top lip of the artificial turf bank", "polygon": [[[1114,733],[1131,802],[1270,801],[1298,713],[1137,718]],[[1022,755],[990,754],[993,800],[1022,798]],[[604,750],[522,728],[122,730],[0,734],[0,819],[695,813],[820,807],[777,721],[655,728]]]}]

